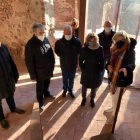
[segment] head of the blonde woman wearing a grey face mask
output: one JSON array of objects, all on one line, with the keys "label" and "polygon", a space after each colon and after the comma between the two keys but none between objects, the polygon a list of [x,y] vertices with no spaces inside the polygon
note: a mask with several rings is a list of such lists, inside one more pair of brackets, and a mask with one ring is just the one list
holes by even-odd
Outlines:
[{"label": "head of the blonde woman wearing a grey face mask", "polygon": [[94,32],[87,35],[86,44],[89,44],[90,47],[94,47],[98,42],[99,38]]}]

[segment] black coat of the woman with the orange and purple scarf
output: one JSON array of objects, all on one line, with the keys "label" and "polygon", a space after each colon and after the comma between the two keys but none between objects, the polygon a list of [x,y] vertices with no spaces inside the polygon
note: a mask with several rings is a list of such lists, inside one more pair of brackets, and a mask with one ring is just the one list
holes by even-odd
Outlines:
[{"label": "black coat of the woman with the orange and purple scarf", "polygon": [[[117,86],[118,87],[127,87],[133,83],[133,71],[135,69],[135,46],[137,41],[133,38],[130,38],[130,48],[126,51],[126,54],[122,60],[121,68],[127,69],[127,76],[124,77],[123,73],[120,73]],[[110,61],[106,64],[105,68],[108,70],[107,66],[110,65]]]}]

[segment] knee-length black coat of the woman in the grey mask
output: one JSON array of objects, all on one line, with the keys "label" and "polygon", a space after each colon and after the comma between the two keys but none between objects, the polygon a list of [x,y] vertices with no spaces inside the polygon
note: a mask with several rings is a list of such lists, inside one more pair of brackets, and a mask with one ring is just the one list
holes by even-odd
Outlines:
[{"label": "knee-length black coat of the woman in the grey mask", "polygon": [[91,89],[99,87],[104,69],[103,48],[99,46],[98,49],[91,50],[85,45],[80,52],[79,65],[82,70],[81,84]]}]

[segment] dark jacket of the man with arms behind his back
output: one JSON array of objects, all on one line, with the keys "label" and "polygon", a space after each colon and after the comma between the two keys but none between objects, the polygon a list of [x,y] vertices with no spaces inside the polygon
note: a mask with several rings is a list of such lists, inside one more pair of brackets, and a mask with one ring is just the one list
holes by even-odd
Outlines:
[{"label": "dark jacket of the man with arms behind his back", "polygon": [[76,37],[68,42],[61,38],[55,43],[55,53],[60,57],[60,67],[65,71],[72,71],[77,68],[78,55],[80,53],[82,44]]}]

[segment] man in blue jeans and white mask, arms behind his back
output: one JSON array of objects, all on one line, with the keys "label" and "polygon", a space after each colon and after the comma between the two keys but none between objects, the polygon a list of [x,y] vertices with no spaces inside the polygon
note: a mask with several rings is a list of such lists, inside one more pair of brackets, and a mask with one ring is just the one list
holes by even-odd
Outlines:
[{"label": "man in blue jeans and white mask, arms behind his back", "polygon": [[71,26],[66,25],[63,37],[55,43],[55,53],[60,57],[60,67],[63,76],[64,91],[62,97],[66,97],[66,93],[69,91],[71,97],[75,98],[73,85],[81,47],[80,40],[72,35]]}]

